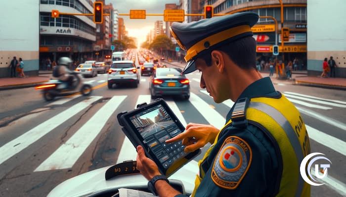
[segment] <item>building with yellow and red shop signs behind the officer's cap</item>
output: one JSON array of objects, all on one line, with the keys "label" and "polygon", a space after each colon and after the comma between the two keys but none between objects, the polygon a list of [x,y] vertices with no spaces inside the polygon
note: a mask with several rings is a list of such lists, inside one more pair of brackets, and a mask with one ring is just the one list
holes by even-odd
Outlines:
[{"label": "building with yellow and red shop signs behind the officer's cap", "polygon": [[[269,18],[259,18],[254,26],[254,38],[257,41],[257,55],[259,60],[268,62],[275,58],[289,61],[298,59],[300,69],[306,69],[306,0],[283,1],[283,27],[289,28],[289,41],[284,42],[281,48],[281,5],[278,0],[206,0],[206,4],[214,6],[215,14],[231,14],[243,11],[253,11],[260,17],[271,16],[278,26]],[[275,28],[278,35],[275,34]],[[277,36],[277,37],[276,37]],[[272,55],[272,46],[275,40],[279,45],[279,56]]]}]

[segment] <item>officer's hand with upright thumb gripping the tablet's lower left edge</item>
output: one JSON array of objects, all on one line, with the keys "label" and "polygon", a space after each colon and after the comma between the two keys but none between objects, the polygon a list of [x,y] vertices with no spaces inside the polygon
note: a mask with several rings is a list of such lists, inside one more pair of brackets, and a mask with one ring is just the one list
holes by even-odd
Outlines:
[{"label": "officer's hand with upright thumb gripping the tablet's lower left edge", "polygon": [[145,156],[142,146],[137,146],[137,169],[148,181],[156,175],[161,175],[155,162]]}]

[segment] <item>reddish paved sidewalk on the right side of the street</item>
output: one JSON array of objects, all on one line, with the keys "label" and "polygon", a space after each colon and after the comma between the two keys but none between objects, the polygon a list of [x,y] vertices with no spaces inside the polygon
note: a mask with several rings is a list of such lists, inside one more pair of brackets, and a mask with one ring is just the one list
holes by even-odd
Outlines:
[{"label": "reddish paved sidewalk on the right side of the street", "polygon": [[[180,62],[163,62],[167,65],[177,66],[181,68],[185,67],[185,64],[181,64]],[[261,71],[260,73],[263,77],[269,76],[269,71]],[[276,76],[275,73],[274,76]],[[293,71],[292,79],[279,80],[275,77],[271,77],[271,80],[274,84],[297,84],[319,88],[335,88],[346,90],[346,78],[321,78],[318,76],[307,76],[306,70]]]}]

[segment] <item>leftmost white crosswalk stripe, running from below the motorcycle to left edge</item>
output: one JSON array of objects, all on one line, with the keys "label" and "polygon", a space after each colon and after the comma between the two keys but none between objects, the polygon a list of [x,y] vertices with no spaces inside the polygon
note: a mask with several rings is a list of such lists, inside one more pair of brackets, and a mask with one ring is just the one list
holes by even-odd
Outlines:
[{"label": "leftmost white crosswalk stripe, running from below the motorcycle to left edge", "polygon": [[5,145],[0,147],[0,164],[27,148],[45,134],[52,131],[77,113],[81,112],[83,109],[87,108],[87,106],[89,106],[91,103],[101,98],[102,97],[99,96],[92,96],[89,99],[85,99],[59,113],[58,115],[44,121],[30,131],[27,131],[19,137],[7,142]]}]

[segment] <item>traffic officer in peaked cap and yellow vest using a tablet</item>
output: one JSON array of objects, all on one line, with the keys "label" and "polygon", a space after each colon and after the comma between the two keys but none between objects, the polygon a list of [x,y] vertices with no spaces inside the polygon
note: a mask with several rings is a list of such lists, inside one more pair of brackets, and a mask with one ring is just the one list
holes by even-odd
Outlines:
[{"label": "traffic officer in peaked cap and yellow vest using a tablet", "polygon": [[[190,123],[166,141],[182,140],[185,151],[212,144],[199,162],[192,197],[310,196],[310,186],[300,175],[300,164],[310,152],[302,116],[256,69],[251,27],[258,19],[256,13],[241,12],[171,27],[177,43],[187,50],[182,73],[198,69],[201,88],[216,103],[235,101],[221,130]],[[148,180],[158,177],[156,164],[142,147],[137,152],[139,171]],[[183,196],[167,181],[156,179],[159,196]]]}]

